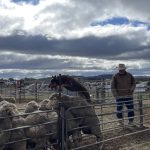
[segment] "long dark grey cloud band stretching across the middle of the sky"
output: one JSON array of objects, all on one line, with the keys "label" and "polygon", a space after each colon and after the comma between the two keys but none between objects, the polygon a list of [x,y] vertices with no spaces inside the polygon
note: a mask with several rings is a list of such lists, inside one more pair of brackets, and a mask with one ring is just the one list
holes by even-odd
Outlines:
[{"label": "long dark grey cloud band stretching across the middle of the sky", "polygon": [[[143,51],[150,49],[150,45],[141,46],[140,38],[129,39],[124,36],[96,37],[87,36],[78,39],[51,39],[38,36],[12,35],[0,37],[0,50],[21,52],[25,54],[50,54],[82,56],[93,58],[118,58],[128,52]],[[145,52],[145,51],[144,51]],[[133,53],[136,58],[140,53]],[[149,59],[150,51],[146,55],[140,55],[143,59]],[[123,58],[123,57],[122,57]],[[129,59],[129,57],[126,57]]]}]

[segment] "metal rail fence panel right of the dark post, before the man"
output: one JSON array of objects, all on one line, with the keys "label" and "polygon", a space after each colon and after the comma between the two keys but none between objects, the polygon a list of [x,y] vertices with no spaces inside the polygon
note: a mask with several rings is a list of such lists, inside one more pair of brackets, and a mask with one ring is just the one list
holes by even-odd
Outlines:
[{"label": "metal rail fence panel right of the dark post, before the man", "polygon": [[[92,148],[93,149],[92,146],[97,145],[99,143],[107,143],[108,141],[111,141],[111,140],[114,140],[114,139],[120,139],[122,137],[128,137],[128,136],[131,136],[131,135],[136,135],[136,134],[145,133],[145,132],[149,131],[150,129],[148,128],[147,123],[150,123],[150,121],[145,119],[145,117],[150,116],[150,114],[143,114],[143,112],[141,113],[140,110],[141,109],[144,110],[145,108],[150,108],[150,106],[141,107],[140,100],[136,100],[136,101],[137,101],[137,104],[138,104],[137,105],[138,108],[134,109],[134,111],[136,111],[136,115],[134,116],[134,118],[136,120],[135,121],[135,125],[136,125],[135,128],[134,127],[132,128],[130,125],[127,124],[127,120],[128,120],[127,117],[124,118],[124,120],[126,121],[126,126],[124,126],[124,127],[120,127],[120,126],[116,125],[116,123],[118,122],[118,119],[111,119],[109,121],[105,121],[105,119],[108,118],[107,116],[112,115],[112,114],[115,115],[116,114],[115,111],[114,112],[110,112],[110,113],[106,113],[106,112],[99,113],[99,114],[97,114],[97,116],[103,116],[103,120],[100,119],[100,123],[97,124],[97,125],[101,126],[101,130],[102,130],[102,134],[103,134],[104,139],[102,141],[100,141],[100,142],[95,142],[94,141],[93,143],[90,143],[90,144],[88,143],[88,144],[85,144],[85,145],[82,145],[82,146],[79,146],[79,147],[76,147],[76,148],[73,148],[73,149],[83,149],[83,148],[85,148],[85,149]],[[113,104],[115,104],[115,103],[113,103]],[[104,105],[104,104],[102,104],[102,105]],[[93,105],[93,106],[96,106],[96,105]],[[93,106],[91,106],[91,107],[93,107]],[[100,105],[98,105],[98,106],[100,106]],[[71,111],[72,109],[80,109],[81,110],[82,107],[70,108],[69,111]],[[124,110],[123,112],[127,113],[127,110]],[[91,116],[86,116],[86,117],[91,117]],[[85,117],[83,117],[83,118],[79,117],[79,118],[73,118],[73,119],[75,119],[75,120],[77,120],[77,119],[85,119]],[[73,120],[73,119],[71,119],[71,120]],[[111,127],[109,127],[110,124],[111,124]],[[102,126],[103,126],[103,128],[102,128]],[[147,126],[147,128],[145,128],[145,126]],[[82,126],[82,127],[79,127],[79,128],[75,128],[74,130],[87,128],[87,127],[88,127],[88,125],[87,126]],[[117,130],[120,131],[120,130],[123,130],[123,129],[124,130],[131,129],[131,130],[130,130],[130,133],[124,133],[122,135],[114,135],[113,137],[105,138],[105,136],[108,133],[110,134],[110,133],[112,133],[114,131],[117,131]],[[88,139],[90,141],[89,137],[88,137]]]}]

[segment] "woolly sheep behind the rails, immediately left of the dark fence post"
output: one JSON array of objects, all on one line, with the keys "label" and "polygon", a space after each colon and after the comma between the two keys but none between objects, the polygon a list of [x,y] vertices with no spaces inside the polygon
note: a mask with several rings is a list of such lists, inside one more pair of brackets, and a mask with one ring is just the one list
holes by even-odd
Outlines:
[{"label": "woolly sheep behind the rails, immediately left of the dark fence post", "polygon": [[[25,118],[25,125],[33,125],[33,127],[25,129],[25,134],[28,138],[32,138],[32,142],[35,143],[35,149],[42,150],[45,148],[47,140],[50,142],[57,140],[57,114],[55,112],[49,112],[48,114],[41,111],[35,112]],[[48,133],[54,134],[46,137],[45,135]]]}]

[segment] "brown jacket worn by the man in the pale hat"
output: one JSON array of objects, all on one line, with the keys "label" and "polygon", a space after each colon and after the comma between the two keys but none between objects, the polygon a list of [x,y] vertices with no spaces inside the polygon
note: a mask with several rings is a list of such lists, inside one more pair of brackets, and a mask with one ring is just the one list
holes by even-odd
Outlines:
[{"label": "brown jacket worn by the man in the pale hat", "polygon": [[112,77],[111,90],[116,98],[133,97],[135,87],[135,79],[128,72],[125,74],[117,73]]}]

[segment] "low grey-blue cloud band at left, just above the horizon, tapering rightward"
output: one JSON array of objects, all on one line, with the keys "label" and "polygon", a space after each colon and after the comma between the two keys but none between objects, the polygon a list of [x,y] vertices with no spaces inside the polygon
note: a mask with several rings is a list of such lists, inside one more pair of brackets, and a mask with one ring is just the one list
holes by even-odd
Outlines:
[{"label": "low grey-blue cloud band at left, just above the horizon, tapering rightward", "polygon": [[[30,60],[27,57],[30,57]],[[0,69],[81,69],[82,65],[78,61],[74,62],[72,59],[60,59],[59,57],[46,58],[36,55],[36,58],[31,58],[31,55],[24,55],[19,59],[19,56],[15,56],[15,54],[0,56]]]}]

